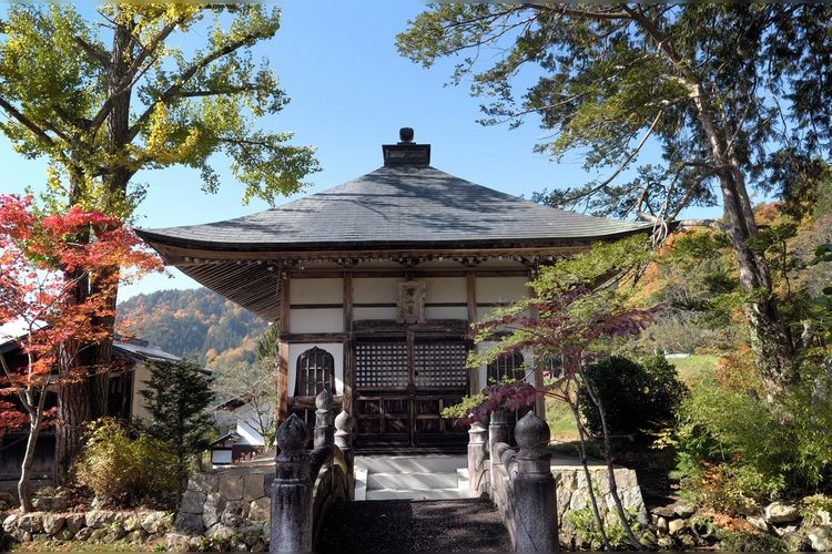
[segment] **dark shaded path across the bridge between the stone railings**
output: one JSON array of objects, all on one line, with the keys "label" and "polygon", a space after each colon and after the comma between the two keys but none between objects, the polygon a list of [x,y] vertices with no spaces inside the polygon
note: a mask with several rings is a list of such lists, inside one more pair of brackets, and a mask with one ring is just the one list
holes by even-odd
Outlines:
[{"label": "dark shaded path across the bridge between the stone railings", "polygon": [[333,506],[315,552],[510,552],[489,500],[341,502]]}]

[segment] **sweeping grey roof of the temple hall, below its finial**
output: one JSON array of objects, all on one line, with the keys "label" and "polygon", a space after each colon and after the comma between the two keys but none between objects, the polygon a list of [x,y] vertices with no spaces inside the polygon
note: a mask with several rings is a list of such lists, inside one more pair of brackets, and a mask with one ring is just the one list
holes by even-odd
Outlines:
[{"label": "sweeping grey roof of the temple hall, below its finial", "polygon": [[430,166],[384,166],[257,214],[139,230],[150,243],[227,250],[484,246],[615,238],[642,223],[542,206]]}]

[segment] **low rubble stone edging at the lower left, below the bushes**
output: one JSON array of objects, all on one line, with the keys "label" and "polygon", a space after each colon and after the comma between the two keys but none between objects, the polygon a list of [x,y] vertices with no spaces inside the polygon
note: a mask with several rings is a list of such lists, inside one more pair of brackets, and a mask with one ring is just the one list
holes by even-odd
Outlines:
[{"label": "low rubble stone edging at the lower left, below the bushes", "polygon": [[9,536],[23,543],[38,537],[104,544],[122,540],[153,542],[163,538],[171,531],[173,514],[109,510],[92,510],[87,513],[16,512],[3,519],[2,527]]}]

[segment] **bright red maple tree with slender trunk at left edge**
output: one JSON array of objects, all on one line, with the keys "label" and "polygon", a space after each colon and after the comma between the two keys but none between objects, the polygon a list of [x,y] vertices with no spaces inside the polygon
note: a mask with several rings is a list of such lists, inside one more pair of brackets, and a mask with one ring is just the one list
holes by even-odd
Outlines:
[{"label": "bright red maple tree with slender trunk at left edge", "polygon": [[[0,434],[29,428],[18,483],[24,512],[32,510],[34,445],[53,417],[45,409],[47,391],[89,378],[91,368],[81,355],[90,345],[111,339],[102,325],[114,316],[110,294],[119,283],[161,268],[161,260],[119,218],[79,206],[42,214],[31,196],[0,195],[0,322],[16,330],[11,338],[23,353],[17,363],[0,353],[0,396],[17,399],[17,406],[0,403]],[[99,289],[79,300],[79,279],[91,278]]]}]

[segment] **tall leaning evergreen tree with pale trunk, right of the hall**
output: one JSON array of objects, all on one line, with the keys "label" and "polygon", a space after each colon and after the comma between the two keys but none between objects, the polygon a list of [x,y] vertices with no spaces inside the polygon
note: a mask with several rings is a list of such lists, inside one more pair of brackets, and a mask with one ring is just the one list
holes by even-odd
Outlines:
[{"label": "tall leaning evergreen tree with pale trunk, right of the hall", "polygon": [[[666,229],[682,208],[719,199],[745,295],[752,347],[769,398],[797,378],[751,188],[784,197],[816,185],[830,155],[832,35],[825,4],[457,4],[432,7],[399,34],[430,66],[463,54],[485,123],[537,114],[559,160],[579,150],[602,182],[555,192],[552,204],[637,214]],[[488,49],[493,52],[487,52]],[[483,68],[480,63],[490,65]],[[515,86],[525,88],[520,92]],[[629,182],[646,144],[661,161]]]}]

